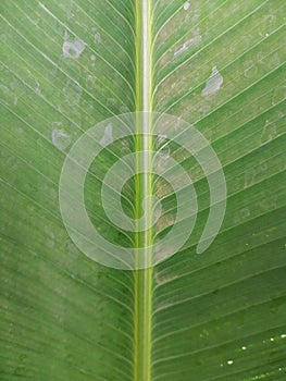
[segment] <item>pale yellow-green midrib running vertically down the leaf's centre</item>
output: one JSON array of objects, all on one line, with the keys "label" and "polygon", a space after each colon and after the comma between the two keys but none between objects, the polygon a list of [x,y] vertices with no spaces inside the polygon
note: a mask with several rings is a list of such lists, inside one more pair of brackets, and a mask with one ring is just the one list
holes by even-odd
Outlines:
[{"label": "pale yellow-green midrib running vertically down the leaf's centre", "polygon": [[[150,151],[152,138],[149,112],[152,111],[152,51],[151,51],[151,2],[152,0],[136,0],[136,152],[138,171],[141,163],[145,169],[142,176],[135,179],[136,199],[135,219],[140,218],[141,200],[152,194],[152,175]],[[142,115],[142,118],[141,118]],[[142,153],[140,153],[142,151]],[[144,196],[144,197],[142,197]],[[145,209],[145,225],[150,225],[152,205]],[[138,229],[137,229],[138,230]],[[152,328],[152,268],[149,267],[152,231],[135,233],[135,247],[145,247],[147,269],[134,272],[134,381],[151,381],[151,328]]]}]

